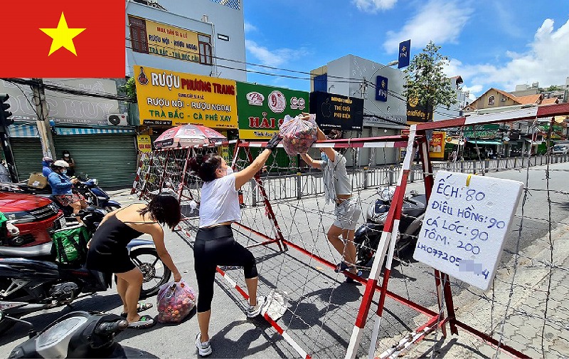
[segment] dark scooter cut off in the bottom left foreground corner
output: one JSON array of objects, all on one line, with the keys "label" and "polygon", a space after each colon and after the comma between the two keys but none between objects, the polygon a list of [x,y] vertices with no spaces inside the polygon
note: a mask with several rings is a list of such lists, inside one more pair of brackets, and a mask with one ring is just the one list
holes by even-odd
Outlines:
[{"label": "dark scooter cut off in the bottom left foreground corner", "polygon": [[126,358],[115,336],[128,328],[128,322],[115,314],[73,311],[39,333],[31,323],[0,310],[0,323],[6,321],[18,321],[31,328],[28,340],[17,345],[9,358]]}]

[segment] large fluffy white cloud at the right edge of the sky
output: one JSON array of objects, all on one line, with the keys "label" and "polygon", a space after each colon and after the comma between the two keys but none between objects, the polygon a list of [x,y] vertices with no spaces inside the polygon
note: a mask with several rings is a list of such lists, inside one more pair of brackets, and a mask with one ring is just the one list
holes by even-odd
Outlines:
[{"label": "large fluffy white cloud at the right edge of the sky", "polygon": [[514,91],[516,85],[534,82],[543,88],[563,85],[569,76],[569,20],[556,31],[553,20],[543,21],[528,48],[525,53],[506,51],[509,61],[500,64],[463,65],[451,59],[445,73],[462,76],[464,83],[482,92],[490,87]]}]

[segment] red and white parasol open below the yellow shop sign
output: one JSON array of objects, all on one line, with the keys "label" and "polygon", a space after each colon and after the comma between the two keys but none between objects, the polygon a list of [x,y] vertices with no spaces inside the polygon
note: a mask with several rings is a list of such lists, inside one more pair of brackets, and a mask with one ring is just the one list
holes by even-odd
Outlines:
[{"label": "red and white parasol open below the yellow shop sign", "polygon": [[211,145],[227,141],[227,137],[216,130],[201,125],[181,125],[164,131],[154,140],[156,148],[176,148],[197,145]]}]

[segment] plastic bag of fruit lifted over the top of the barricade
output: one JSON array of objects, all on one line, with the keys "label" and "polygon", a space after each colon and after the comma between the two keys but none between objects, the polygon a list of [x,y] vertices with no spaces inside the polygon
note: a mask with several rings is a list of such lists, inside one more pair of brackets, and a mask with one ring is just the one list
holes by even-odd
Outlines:
[{"label": "plastic bag of fruit lifted over the top of the barricade", "polygon": [[289,156],[306,153],[317,140],[316,115],[309,115],[308,120],[303,120],[304,115],[297,115],[291,118],[285,116],[285,120],[280,125],[279,135],[282,137],[282,147]]}]

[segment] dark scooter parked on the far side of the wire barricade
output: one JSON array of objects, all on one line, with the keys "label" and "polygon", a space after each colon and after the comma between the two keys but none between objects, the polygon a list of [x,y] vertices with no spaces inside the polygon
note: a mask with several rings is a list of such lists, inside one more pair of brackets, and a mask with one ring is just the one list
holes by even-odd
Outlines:
[{"label": "dark scooter parked on the far side of the wire barricade", "polygon": [[[373,264],[373,257],[378,249],[383,225],[393,200],[393,193],[393,189],[389,187],[380,187],[378,199],[367,209],[366,223],[356,230],[353,241],[356,244],[356,264],[358,266],[369,267]],[[411,191],[409,196],[403,199],[398,236],[395,239],[395,248],[398,251],[403,251],[415,244],[426,209],[425,194]]]}]

